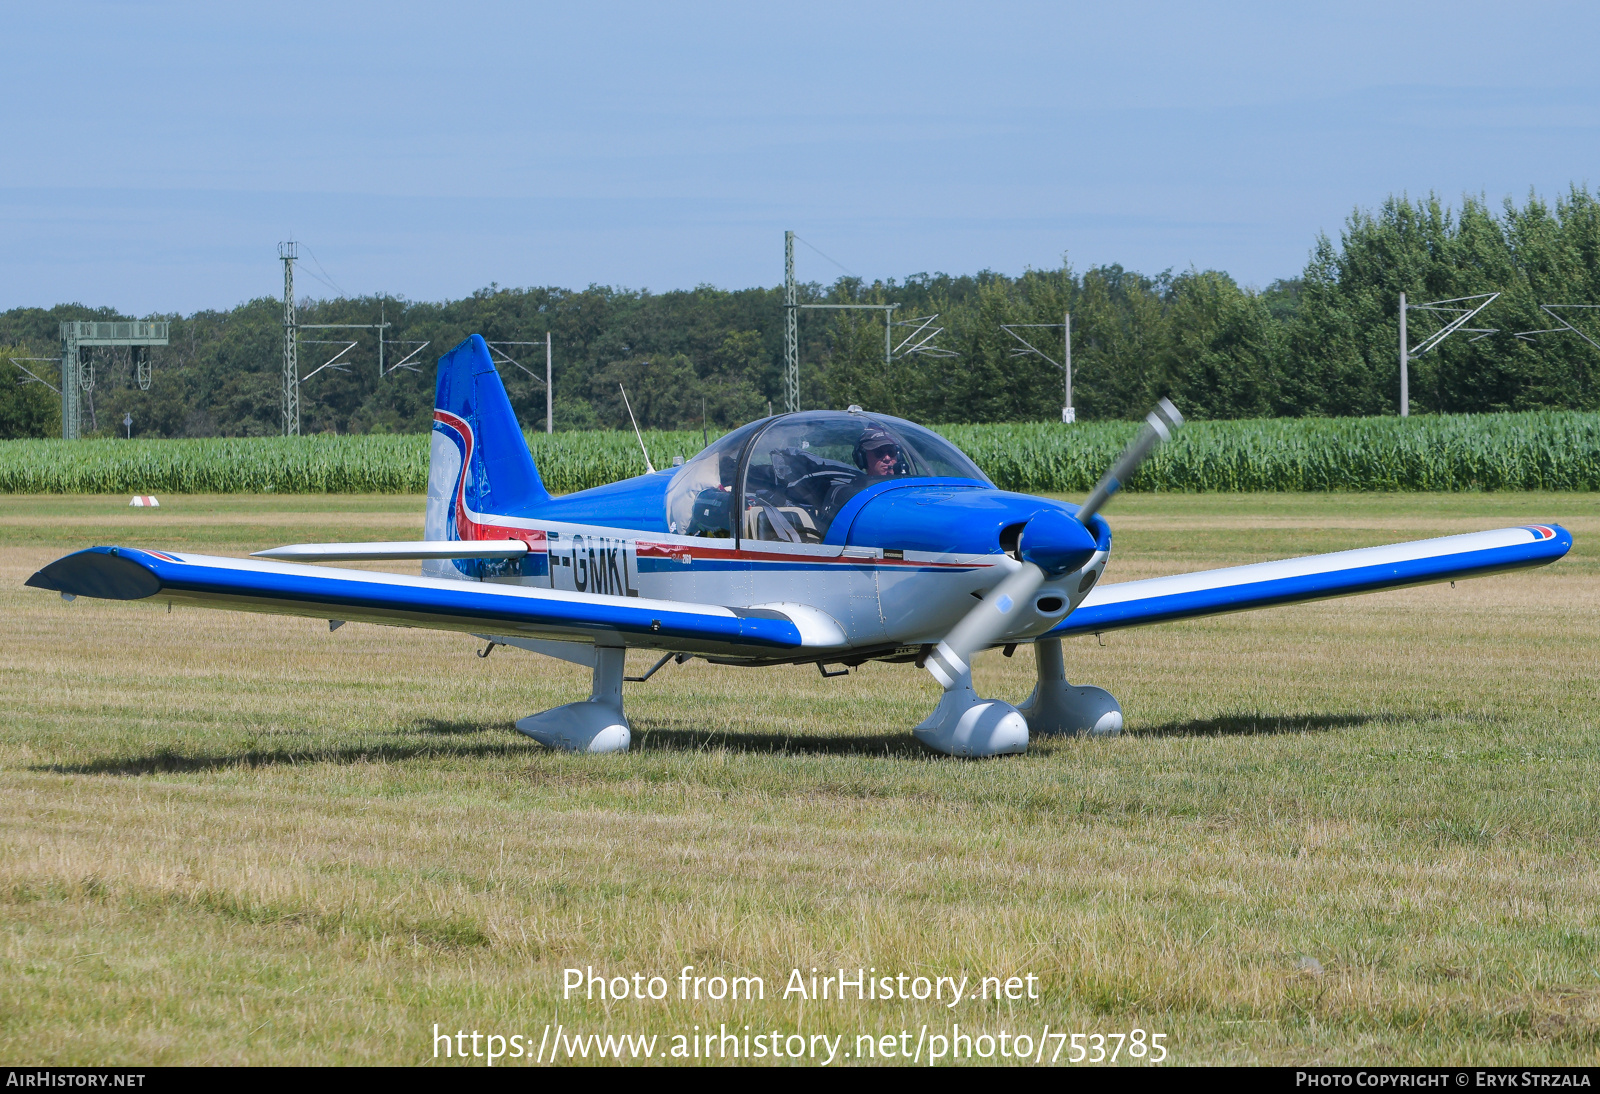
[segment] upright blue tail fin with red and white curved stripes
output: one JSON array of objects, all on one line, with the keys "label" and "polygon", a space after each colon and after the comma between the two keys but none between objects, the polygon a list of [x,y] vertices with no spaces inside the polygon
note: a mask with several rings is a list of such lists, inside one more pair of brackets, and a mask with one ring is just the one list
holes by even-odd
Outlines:
[{"label": "upright blue tail fin with red and white curved stripes", "polygon": [[483,515],[512,515],[549,499],[490,347],[472,334],[438,358],[424,536],[477,539]]}]

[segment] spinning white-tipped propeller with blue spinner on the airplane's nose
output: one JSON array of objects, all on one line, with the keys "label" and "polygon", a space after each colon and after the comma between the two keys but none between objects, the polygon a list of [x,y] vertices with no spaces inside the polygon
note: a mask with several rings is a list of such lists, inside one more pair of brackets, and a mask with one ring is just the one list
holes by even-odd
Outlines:
[{"label": "spinning white-tipped propeller with blue spinner on the airplane's nose", "polygon": [[1090,529],[1094,513],[1122,489],[1155,446],[1173,438],[1173,430],[1184,424],[1168,400],[1160,400],[1144,419],[1144,429],[1123,449],[1099,483],[1083,501],[1077,517],[1061,510],[1045,510],[1027,521],[1018,537],[1018,555],[1022,565],[1016,573],[995,585],[955,629],[944,637],[925,662],[933,678],[946,691],[960,685],[971,672],[973,654],[987,649],[1011,627],[1011,611],[1027,603],[1046,577],[1059,577],[1086,563],[1096,550],[1094,533]]}]

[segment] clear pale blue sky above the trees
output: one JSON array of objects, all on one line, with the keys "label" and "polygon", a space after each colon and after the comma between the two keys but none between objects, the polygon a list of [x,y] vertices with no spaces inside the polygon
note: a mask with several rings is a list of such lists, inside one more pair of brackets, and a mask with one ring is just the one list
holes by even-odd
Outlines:
[{"label": "clear pale blue sky above the trees", "polygon": [[802,280],[1066,254],[1262,286],[1392,192],[1600,184],[1592,3],[5,2],[0,27],[0,309],[232,307],[280,291],[290,235],[312,296],[776,285],[784,229]]}]

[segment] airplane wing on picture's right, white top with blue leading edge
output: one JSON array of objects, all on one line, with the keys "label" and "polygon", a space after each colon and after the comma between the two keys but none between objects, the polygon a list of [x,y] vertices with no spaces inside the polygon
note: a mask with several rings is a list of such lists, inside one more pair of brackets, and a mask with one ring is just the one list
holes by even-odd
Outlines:
[{"label": "airplane wing on picture's right, white top with blue leading edge", "polygon": [[1045,637],[1093,635],[1174,619],[1482,577],[1502,569],[1544,566],[1565,555],[1571,545],[1573,536],[1565,528],[1528,525],[1173,577],[1123,581],[1090,592]]}]

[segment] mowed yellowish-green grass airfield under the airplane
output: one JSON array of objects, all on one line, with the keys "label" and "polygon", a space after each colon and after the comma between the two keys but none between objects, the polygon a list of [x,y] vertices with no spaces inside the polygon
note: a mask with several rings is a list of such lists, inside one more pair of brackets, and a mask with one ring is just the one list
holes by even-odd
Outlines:
[{"label": "mowed yellowish-green grass airfield under the airplane", "polygon": [[[1555,520],[1555,566],[1067,643],[1115,741],[958,763],[909,665],[627,685],[467,637],[24,589],[94,542],[414,537],[408,497],[0,499],[0,1059],[432,1062],[432,1025],[1166,1033],[1171,1060],[1600,1060],[1600,497],[1126,496],[1110,579]],[[986,654],[1018,701],[1027,651]],[[646,659],[635,654],[637,667]],[[1309,960],[1315,961],[1315,966]],[[562,1000],[562,969],[762,976]],[[1038,976],[800,1003],[789,969]],[[1320,974],[1314,969],[1320,966]],[[662,1048],[666,1048],[662,1040]],[[1048,1059],[1048,1052],[1046,1052]],[[1062,1054],[1066,1059],[1066,1054]]]}]

